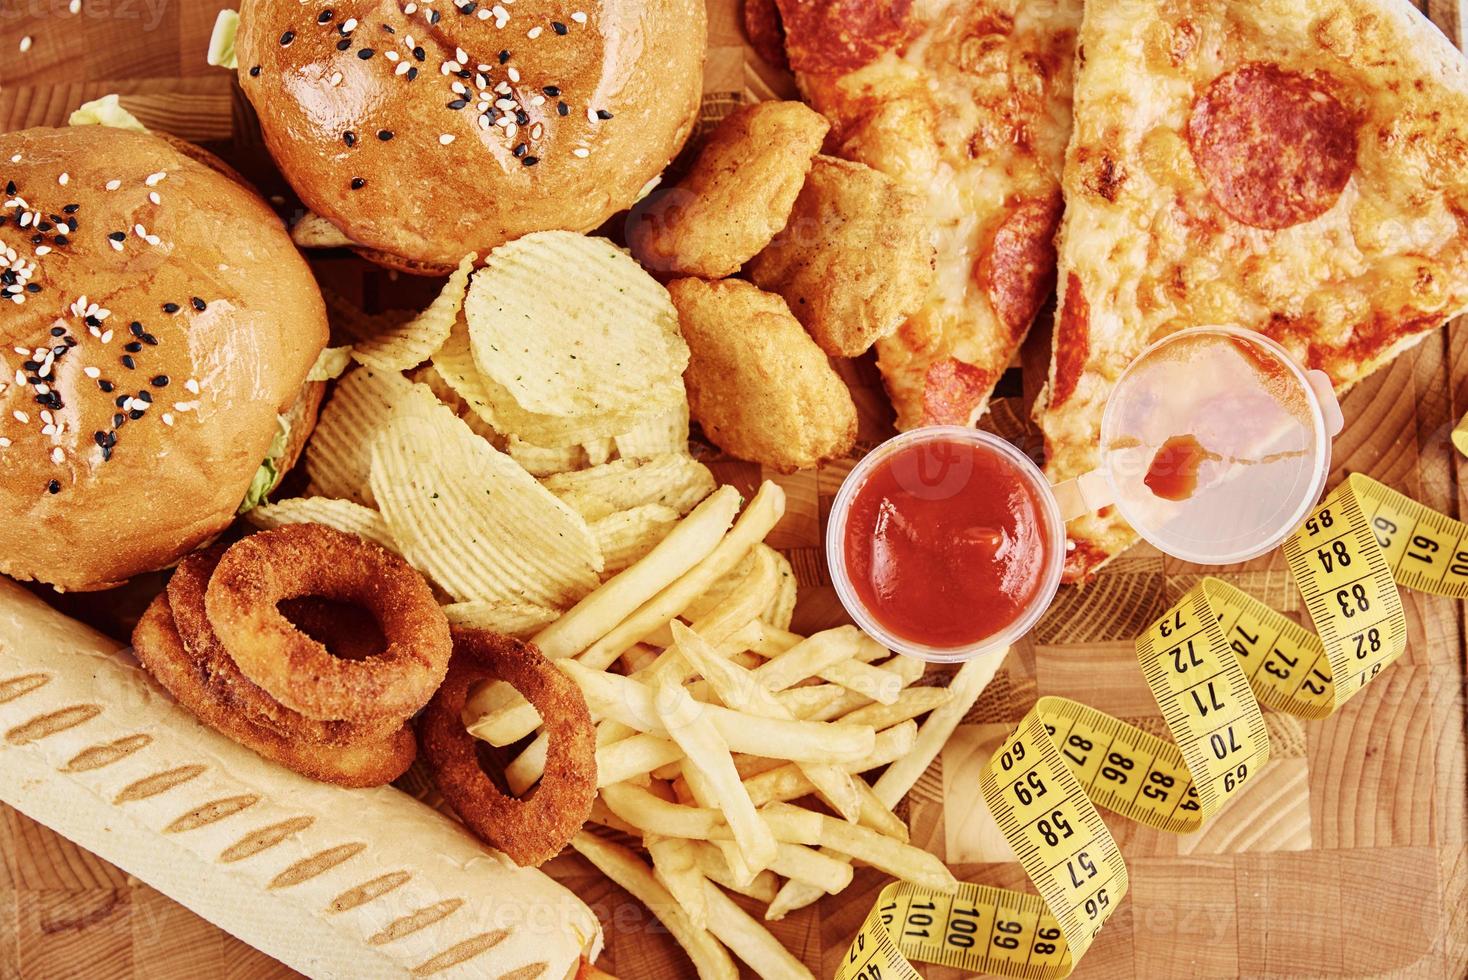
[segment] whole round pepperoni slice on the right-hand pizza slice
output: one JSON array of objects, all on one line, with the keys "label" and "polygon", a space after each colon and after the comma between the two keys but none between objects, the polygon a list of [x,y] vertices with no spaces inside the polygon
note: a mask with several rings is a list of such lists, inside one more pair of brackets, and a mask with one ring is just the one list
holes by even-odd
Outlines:
[{"label": "whole round pepperoni slice on the right-hand pizza slice", "polygon": [[1356,117],[1329,82],[1255,62],[1218,76],[1193,103],[1192,156],[1230,217],[1279,230],[1336,204],[1356,167]]}]

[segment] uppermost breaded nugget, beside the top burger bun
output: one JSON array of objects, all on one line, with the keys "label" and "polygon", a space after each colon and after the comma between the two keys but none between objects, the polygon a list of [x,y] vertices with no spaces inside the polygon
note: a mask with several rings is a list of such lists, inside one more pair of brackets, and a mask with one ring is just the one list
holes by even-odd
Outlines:
[{"label": "uppermost breaded nugget, beside the top burger bun", "polygon": [[785,226],[829,128],[803,103],[735,110],[681,183],[633,211],[633,254],[656,271],[733,276]]}]

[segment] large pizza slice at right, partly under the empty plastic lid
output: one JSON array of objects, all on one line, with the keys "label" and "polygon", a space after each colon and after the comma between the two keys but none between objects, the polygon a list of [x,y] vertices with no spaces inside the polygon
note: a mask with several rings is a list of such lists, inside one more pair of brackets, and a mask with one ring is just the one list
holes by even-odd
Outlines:
[{"label": "large pizza slice at right, partly under the empty plastic lid", "polygon": [[[1406,0],[1086,0],[1080,50],[1053,481],[1174,330],[1260,330],[1343,389],[1468,310],[1468,66]],[[1136,538],[1069,530],[1072,581]]]}]

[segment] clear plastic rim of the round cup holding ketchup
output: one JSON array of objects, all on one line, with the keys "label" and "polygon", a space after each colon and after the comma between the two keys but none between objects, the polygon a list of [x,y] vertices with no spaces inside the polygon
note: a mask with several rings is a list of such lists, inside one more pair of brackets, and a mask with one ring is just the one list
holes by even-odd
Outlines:
[{"label": "clear plastic rim of the round cup holding ketchup", "polygon": [[[851,505],[856,500],[857,493],[866,486],[866,481],[876,471],[876,468],[887,462],[893,455],[923,443],[935,442],[960,443],[992,452],[997,461],[1009,467],[1016,478],[1023,481],[1033,491],[1032,496],[1038,503],[1041,518],[1039,530],[1045,541],[1045,563],[1041,571],[1039,585],[1031,600],[1017,612],[1013,622],[997,629],[992,635],[984,637],[975,643],[967,643],[962,647],[929,646],[919,640],[898,635],[890,629],[878,621],[869,609],[866,609],[851,582],[850,571],[847,569],[847,519],[851,513]],[[962,477],[962,474],[944,474],[942,478],[925,483],[922,491],[926,496],[984,490],[984,487],[975,487],[967,480],[959,477]],[[1064,555],[1066,525],[1060,518],[1060,508],[1055,502],[1055,496],[1050,490],[1050,483],[1045,480],[1045,474],[1039,471],[1029,456],[1003,439],[976,428],[964,428],[960,425],[918,428],[897,436],[895,439],[890,439],[873,449],[856,465],[841,484],[841,490],[837,493],[835,500],[831,505],[831,515],[826,522],[826,563],[831,571],[831,581],[835,585],[837,596],[841,599],[841,604],[846,607],[847,613],[850,613],[856,625],[888,650],[934,663],[960,663],[972,660],[986,650],[1007,647],[1029,632],[1050,607],[1051,600],[1055,597],[1055,591],[1060,588]]]}]

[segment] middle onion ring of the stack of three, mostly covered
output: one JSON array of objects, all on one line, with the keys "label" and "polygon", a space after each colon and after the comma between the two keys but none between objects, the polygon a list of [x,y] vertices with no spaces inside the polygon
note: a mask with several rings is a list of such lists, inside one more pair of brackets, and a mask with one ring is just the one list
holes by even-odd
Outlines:
[{"label": "middle onion ring of the stack of three, mostly covered", "polygon": [[[247,678],[225,644],[220,643],[204,610],[204,593],[223,553],[225,547],[216,544],[204,552],[188,555],[179,562],[167,585],[173,626],[178,629],[189,660],[195,665],[203,692],[222,707],[242,714],[250,723],[297,741],[352,745],[382,741],[402,728],[405,716],[388,717],[373,725],[319,722],[299,712],[292,712]],[[310,616],[310,622],[317,632],[327,625],[314,615]]]}]

